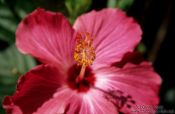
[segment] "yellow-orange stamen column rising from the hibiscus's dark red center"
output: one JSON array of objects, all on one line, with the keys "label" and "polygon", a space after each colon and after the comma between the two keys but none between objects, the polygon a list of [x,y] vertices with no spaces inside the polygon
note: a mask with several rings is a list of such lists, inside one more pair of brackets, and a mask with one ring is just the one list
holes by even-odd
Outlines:
[{"label": "yellow-orange stamen column rising from the hibiscus's dark red center", "polygon": [[[74,60],[78,66],[81,66],[79,79],[84,78],[86,67],[91,65],[95,60],[95,49],[92,46],[93,38],[89,33],[76,35],[76,46],[74,49]],[[77,78],[78,80],[78,78]]]}]

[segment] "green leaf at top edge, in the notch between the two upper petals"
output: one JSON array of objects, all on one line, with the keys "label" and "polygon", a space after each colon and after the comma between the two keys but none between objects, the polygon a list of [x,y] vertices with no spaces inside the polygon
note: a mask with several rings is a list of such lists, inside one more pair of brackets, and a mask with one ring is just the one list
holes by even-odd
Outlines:
[{"label": "green leaf at top edge, in the notch between the two upper petals", "polygon": [[66,0],[65,5],[69,12],[71,23],[75,21],[77,16],[88,10],[91,5],[91,0]]}]

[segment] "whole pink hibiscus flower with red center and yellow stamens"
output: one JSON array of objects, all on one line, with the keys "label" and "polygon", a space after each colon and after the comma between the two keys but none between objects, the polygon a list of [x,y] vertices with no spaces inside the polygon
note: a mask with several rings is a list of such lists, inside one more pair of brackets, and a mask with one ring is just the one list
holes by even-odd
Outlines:
[{"label": "whole pink hibiscus flower with red center and yellow stamens", "polygon": [[151,64],[113,65],[141,35],[119,9],[83,14],[73,27],[61,13],[35,10],[19,24],[16,45],[43,64],[19,79],[3,107],[7,114],[132,114],[141,106],[155,113],[161,79]]}]

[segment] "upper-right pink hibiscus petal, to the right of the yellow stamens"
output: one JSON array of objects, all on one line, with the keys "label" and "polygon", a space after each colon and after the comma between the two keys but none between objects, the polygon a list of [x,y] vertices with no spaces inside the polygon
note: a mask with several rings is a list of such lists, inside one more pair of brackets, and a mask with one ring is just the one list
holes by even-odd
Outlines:
[{"label": "upper-right pink hibiscus petal, to the right of the yellow stamens", "polygon": [[94,63],[120,61],[126,52],[133,51],[141,39],[140,26],[119,9],[103,9],[80,16],[74,28],[94,37]]}]

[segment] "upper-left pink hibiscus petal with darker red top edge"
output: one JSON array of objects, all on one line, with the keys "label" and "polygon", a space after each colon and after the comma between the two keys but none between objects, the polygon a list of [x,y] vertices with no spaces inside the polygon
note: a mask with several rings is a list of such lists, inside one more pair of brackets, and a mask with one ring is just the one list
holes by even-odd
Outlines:
[{"label": "upper-left pink hibiscus petal with darker red top edge", "polygon": [[73,61],[74,31],[60,13],[37,9],[18,26],[18,49],[42,62],[69,66]]}]

